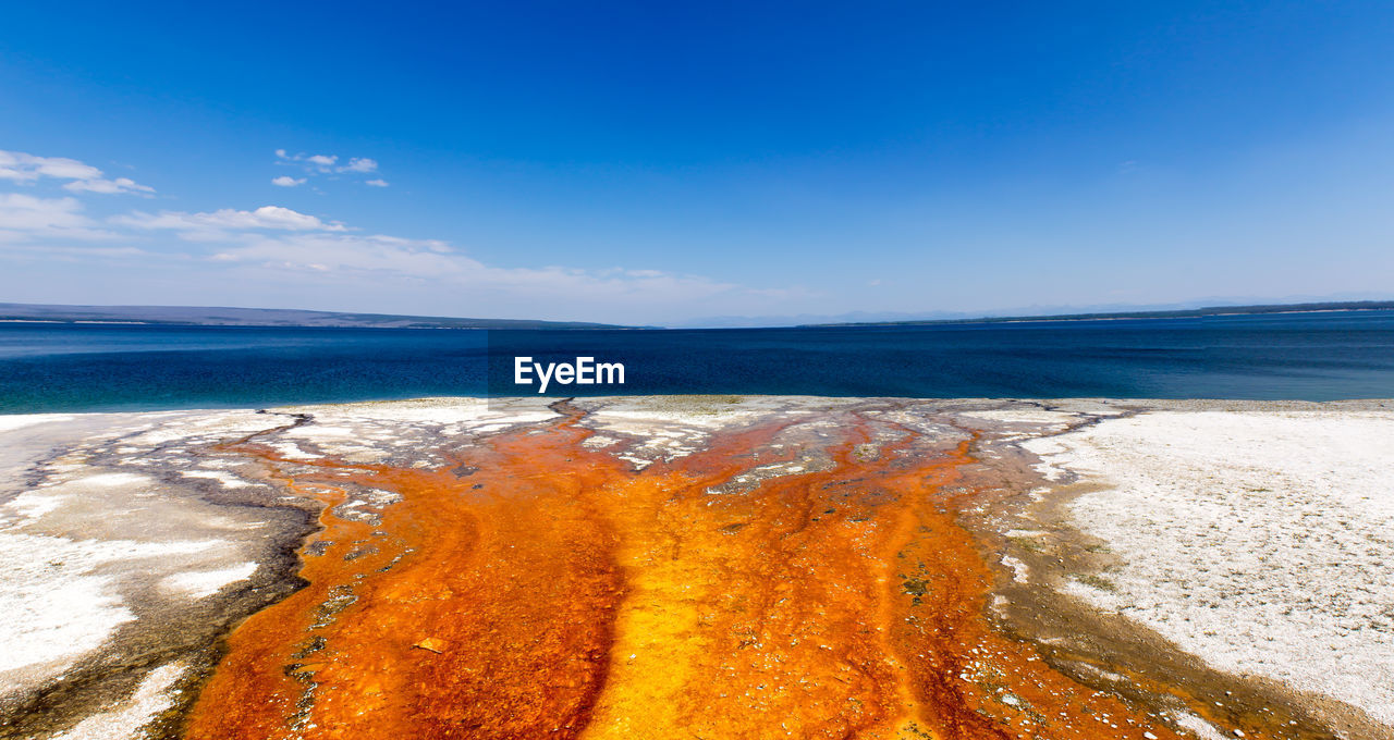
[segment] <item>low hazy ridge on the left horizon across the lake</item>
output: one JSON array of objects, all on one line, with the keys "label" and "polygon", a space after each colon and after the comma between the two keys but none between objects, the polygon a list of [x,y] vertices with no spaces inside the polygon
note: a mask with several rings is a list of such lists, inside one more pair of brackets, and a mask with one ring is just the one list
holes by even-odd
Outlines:
[{"label": "low hazy ridge on the left horizon across the lake", "polygon": [[625,329],[612,323],[403,316],[296,308],[0,304],[0,321],[162,326],[337,326],[360,329]]}]

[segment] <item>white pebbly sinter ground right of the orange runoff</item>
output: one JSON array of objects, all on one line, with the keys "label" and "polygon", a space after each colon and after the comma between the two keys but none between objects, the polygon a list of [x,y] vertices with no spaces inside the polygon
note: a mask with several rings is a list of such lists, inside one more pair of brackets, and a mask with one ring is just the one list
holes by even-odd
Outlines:
[{"label": "white pebbly sinter ground right of the orange runoff", "polygon": [[1026,446],[1108,486],[1071,514],[1124,564],[1069,592],[1394,723],[1394,413],[1157,411]]}]

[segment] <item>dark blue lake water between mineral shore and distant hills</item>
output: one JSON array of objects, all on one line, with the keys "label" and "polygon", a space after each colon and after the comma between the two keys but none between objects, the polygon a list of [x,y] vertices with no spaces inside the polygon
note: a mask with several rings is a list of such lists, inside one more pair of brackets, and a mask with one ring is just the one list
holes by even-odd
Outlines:
[{"label": "dark blue lake water between mineral shore and distant hills", "polygon": [[591,394],[1387,399],[1394,311],[719,330],[7,323],[0,413],[531,393],[512,383],[514,355],[625,364],[626,385]]}]

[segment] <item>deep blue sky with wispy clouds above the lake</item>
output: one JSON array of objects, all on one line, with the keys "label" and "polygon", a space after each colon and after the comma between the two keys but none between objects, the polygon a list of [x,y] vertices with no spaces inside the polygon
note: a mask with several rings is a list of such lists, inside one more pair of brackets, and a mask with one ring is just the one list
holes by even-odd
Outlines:
[{"label": "deep blue sky with wispy clouds above the lake", "polygon": [[1394,297],[1391,3],[493,6],[7,6],[0,300]]}]

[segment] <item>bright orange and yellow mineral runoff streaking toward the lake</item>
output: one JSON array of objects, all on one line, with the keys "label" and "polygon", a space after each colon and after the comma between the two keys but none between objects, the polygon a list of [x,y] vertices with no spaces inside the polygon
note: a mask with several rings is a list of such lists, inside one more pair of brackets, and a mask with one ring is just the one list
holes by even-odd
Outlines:
[{"label": "bright orange and yellow mineral runoff streaking toward the lake", "polygon": [[[994,631],[958,521],[973,433],[849,413],[835,439],[767,424],[634,471],[579,418],[439,470],[244,445],[323,530],[188,737],[1177,737]],[[401,499],[346,517],[348,486]]]}]

